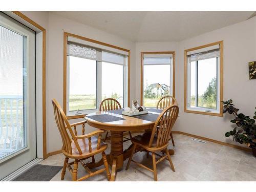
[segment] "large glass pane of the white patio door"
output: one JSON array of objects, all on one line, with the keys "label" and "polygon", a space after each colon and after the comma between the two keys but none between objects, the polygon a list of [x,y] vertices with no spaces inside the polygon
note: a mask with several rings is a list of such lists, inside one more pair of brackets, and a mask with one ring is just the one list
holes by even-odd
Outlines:
[{"label": "large glass pane of the white patio door", "polygon": [[0,158],[25,146],[25,41],[0,26]]}]

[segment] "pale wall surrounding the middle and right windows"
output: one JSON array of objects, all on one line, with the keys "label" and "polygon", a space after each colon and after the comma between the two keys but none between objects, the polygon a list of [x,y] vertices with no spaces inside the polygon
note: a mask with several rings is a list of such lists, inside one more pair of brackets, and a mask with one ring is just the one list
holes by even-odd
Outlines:
[{"label": "pale wall surrounding the middle and right windows", "polygon": [[[249,80],[248,62],[256,60],[256,17],[245,22],[189,38],[180,42],[136,43],[136,70],[140,75],[140,52],[176,51],[175,93],[180,108],[174,131],[182,131],[223,142],[233,142],[224,136],[230,131],[232,116],[208,116],[184,113],[184,50],[224,41],[224,100],[233,99],[239,112],[251,117],[256,106],[256,79]],[[140,80],[136,78],[136,98],[140,98]]]}]

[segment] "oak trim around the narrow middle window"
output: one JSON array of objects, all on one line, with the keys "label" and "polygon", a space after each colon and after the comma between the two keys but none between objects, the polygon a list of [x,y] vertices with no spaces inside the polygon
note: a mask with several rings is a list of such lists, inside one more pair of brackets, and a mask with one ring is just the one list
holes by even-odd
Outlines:
[{"label": "oak trim around the narrow middle window", "polygon": [[153,51],[140,53],[140,103],[143,105],[143,55],[144,54],[173,54],[173,97],[175,97],[175,51]]}]

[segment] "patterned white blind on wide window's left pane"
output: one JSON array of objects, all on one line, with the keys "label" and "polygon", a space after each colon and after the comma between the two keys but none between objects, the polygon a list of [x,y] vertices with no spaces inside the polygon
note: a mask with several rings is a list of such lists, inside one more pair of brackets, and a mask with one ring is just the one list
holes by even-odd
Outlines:
[{"label": "patterned white blind on wide window's left pane", "polygon": [[96,49],[79,44],[74,44],[72,42],[69,42],[68,44],[68,56],[75,56],[93,60],[97,59]]}]

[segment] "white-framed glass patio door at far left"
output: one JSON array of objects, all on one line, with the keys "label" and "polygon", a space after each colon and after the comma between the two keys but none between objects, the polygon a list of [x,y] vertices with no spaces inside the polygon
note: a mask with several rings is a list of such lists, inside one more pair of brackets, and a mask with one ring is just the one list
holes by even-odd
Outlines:
[{"label": "white-framed glass patio door at far left", "polygon": [[35,32],[0,12],[0,180],[36,158]]}]

